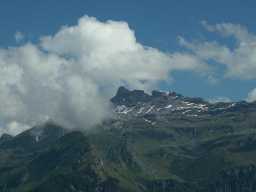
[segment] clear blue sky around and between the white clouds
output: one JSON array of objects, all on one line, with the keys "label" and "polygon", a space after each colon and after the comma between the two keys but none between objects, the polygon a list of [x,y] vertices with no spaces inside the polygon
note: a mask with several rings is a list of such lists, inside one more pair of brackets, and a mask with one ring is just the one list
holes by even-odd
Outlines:
[{"label": "clear blue sky around and between the white clouds", "polygon": [[[218,31],[207,30],[201,23],[204,20],[211,26],[218,23],[240,24],[250,34],[256,34],[255,1],[1,1],[0,47],[22,46],[28,41],[39,44],[40,36],[53,36],[64,25],[74,26],[84,15],[96,17],[100,22],[125,21],[134,30],[137,42],[166,54],[194,54],[180,45],[178,36],[189,43],[215,40],[231,51],[238,48],[234,36],[224,37]],[[24,35],[20,42],[14,37],[17,30]],[[173,81],[167,84],[160,80],[158,89],[200,96],[206,100],[227,97],[238,101],[247,98],[247,94],[256,88],[256,75],[250,79],[224,77],[226,65],[211,59],[207,63],[216,68],[210,76],[218,79],[217,83],[209,84],[209,75],[191,70],[172,70]]]}]

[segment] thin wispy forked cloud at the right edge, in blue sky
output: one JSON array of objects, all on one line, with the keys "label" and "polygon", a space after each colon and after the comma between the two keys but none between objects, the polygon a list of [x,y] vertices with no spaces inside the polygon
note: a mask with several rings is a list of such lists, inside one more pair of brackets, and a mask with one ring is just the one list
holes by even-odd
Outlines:
[{"label": "thin wispy forked cloud at the right edge, in blue sky", "polygon": [[202,25],[207,30],[219,32],[222,36],[234,36],[238,45],[234,50],[228,46],[212,42],[187,42],[179,37],[180,44],[192,50],[199,59],[208,62],[214,60],[224,66],[226,78],[254,79],[256,78],[256,35],[239,25],[231,23],[222,23],[211,26],[206,21]]}]

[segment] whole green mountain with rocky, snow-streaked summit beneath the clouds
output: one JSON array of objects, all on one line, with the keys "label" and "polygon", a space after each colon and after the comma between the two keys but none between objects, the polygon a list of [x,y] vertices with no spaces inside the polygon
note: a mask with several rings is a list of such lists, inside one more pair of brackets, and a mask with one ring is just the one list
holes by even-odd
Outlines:
[{"label": "whole green mountain with rocky, snow-streaked summit beneath the clouds", "polygon": [[129,91],[86,132],[49,121],[0,138],[0,191],[255,192],[256,102]]}]

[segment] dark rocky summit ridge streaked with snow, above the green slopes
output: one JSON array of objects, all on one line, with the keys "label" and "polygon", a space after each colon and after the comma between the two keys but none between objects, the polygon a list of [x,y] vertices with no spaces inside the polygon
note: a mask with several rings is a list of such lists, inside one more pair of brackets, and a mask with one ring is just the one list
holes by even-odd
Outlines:
[{"label": "dark rocky summit ridge streaked with snow, above the green slopes", "polygon": [[120,114],[140,116],[145,114],[180,113],[186,116],[216,116],[235,108],[244,110],[253,105],[245,101],[211,104],[200,97],[184,97],[176,92],[152,91],[151,96],[143,90],[130,91],[124,86],[118,88],[110,100],[114,111]]}]

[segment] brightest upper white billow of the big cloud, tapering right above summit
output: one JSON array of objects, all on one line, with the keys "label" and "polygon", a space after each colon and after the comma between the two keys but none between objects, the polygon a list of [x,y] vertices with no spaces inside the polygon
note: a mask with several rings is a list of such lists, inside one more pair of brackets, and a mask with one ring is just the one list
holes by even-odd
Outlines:
[{"label": "brightest upper white billow of the big cloud, tapering right above summit", "polygon": [[208,65],[190,54],[168,56],[142,46],[126,22],[103,23],[84,16],[77,26],[64,26],[54,36],[41,37],[41,41],[47,51],[75,56],[100,86],[122,81],[132,88],[149,90],[160,80],[170,81],[171,70],[209,70]]}]

